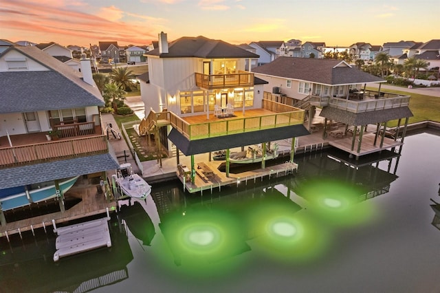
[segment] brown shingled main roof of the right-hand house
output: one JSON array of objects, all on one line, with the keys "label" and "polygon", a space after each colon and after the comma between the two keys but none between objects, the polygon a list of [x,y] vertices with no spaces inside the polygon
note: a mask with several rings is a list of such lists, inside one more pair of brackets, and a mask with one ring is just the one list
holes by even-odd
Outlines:
[{"label": "brown shingled main roof of the right-hand house", "polygon": [[252,69],[255,74],[305,80],[323,85],[384,83],[386,80],[351,67],[344,61],[318,58],[278,57]]}]

